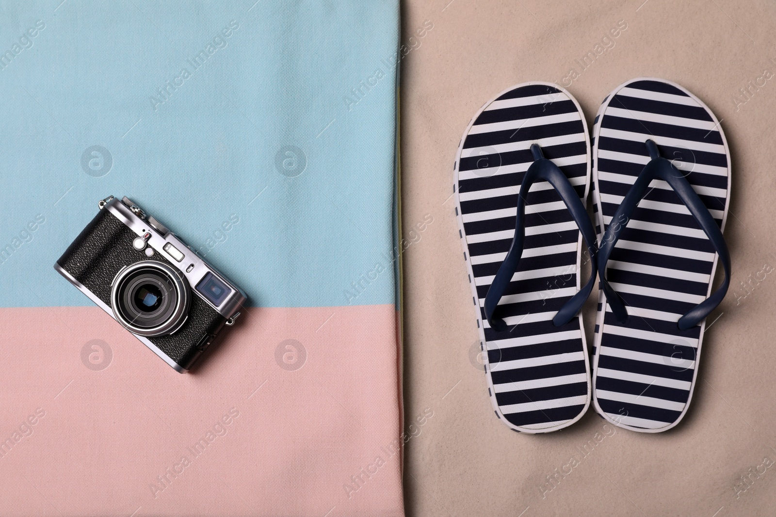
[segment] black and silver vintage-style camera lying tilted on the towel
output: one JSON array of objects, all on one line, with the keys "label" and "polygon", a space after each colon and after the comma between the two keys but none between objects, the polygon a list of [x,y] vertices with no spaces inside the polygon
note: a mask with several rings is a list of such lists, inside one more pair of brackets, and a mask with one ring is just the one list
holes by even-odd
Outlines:
[{"label": "black and silver vintage-style camera lying tilted on the towel", "polygon": [[240,315],[246,296],[128,198],[99,213],[54,269],[178,372]]}]

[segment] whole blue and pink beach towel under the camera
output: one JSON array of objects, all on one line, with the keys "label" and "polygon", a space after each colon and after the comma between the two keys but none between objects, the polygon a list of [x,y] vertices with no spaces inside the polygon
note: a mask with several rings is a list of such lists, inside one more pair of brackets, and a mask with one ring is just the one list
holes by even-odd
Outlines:
[{"label": "whole blue and pink beach towel under the camera", "polygon": [[[398,2],[0,7],[0,515],[404,515]],[[185,374],[54,271],[127,196],[248,295]]]}]

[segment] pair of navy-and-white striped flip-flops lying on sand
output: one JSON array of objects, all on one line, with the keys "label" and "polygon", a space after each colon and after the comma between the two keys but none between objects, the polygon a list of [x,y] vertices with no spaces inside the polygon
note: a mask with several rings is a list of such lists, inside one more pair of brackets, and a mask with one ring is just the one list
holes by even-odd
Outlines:
[{"label": "pair of navy-and-white striped flip-flops lying on sand", "polygon": [[[682,419],[705,317],[729,285],[729,164],[712,112],[662,79],[608,95],[592,151],[580,105],[556,84],[518,84],[477,112],[456,156],[456,215],[488,393],[507,426],[563,429],[591,398],[627,429]],[[591,375],[579,310],[596,277]]]}]

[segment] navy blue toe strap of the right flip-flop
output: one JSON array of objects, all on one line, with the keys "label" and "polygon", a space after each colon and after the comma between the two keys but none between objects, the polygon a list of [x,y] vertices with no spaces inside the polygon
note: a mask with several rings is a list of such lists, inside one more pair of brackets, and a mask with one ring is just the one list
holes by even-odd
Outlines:
[{"label": "navy blue toe strap of the right flip-flop", "polygon": [[674,189],[677,196],[684,205],[690,211],[690,214],[701,226],[701,229],[708,236],[708,240],[711,241],[714,250],[719,255],[719,260],[722,262],[722,268],[725,270],[725,281],[722,285],[712,293],[711,296],[706,298],[703,302],[695,305],[686,314],[684,314],[678,322],[679,329],[687,330],[698,325],[710,312],[712,312],[720,302],[722,298],[725,298],[729,284],[730,284],[730,253],[728,252],[727,245],[724,237],[722,237],[722,231],[717,226],[716,221],[712,215],[708,212],[708,209],[698,198],[690,183],[684,178],[681,172],[677,171],[674,164],[671,164],[669,160],[660,157],[660,151],[657,150],[656,144],[652,140],[646,141],[646,148],[650,152],[650,162],[646,164],[639,173],[639,177],[636,178],[633,186],[625,195],[622,203],[618,206],[615,215],[611,218],[611,223],[607,227],[603,238],[601,239],[600,260],[598,260],[598,277],[601,280],[601,288],[603,288],[606,295],[606,301],[611,307],[611,312],[614,313],[615,318],[619,322],[625,323],[628,320],[628,312],[625,309],[625,302],[622,301],[622,297],[618,295],[617,291],[611,288],[608,281],[606,281],[606,264],[611,255],[611,250],[614,250],[622,231],[627,226],[628,221],[631,219],[633,211],[636,210],[636,206],[639,205],[641,199],[646,195],[647,188],[653,180],[663,180]]}]

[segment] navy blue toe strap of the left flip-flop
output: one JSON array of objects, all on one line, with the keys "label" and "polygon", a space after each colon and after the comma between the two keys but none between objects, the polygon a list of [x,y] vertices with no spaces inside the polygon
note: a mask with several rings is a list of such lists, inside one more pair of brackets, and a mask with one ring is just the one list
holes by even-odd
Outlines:
[{"label": "navy blue toe strap of the left flip-flop", "polygon": [[[512,239],[512,244],[507,253],[507,257],[504,258],[504,262],[502,262],[501,266],[498,268],[496,276],[494,277],[493,282],[491,282],[485,297],[485,317],[487,318],[488,323],[490,323],[490,328],[497,331],[503,331],[507,328],[504,319],[499,318],[495,313],[497,312],[498,302],[501,301],[501,297],[504,296],[504,292],[507,290],[514,272],[517,271],[520,257],[523,254],[523,241],[525,240],[525,198],[528,196],[528,190],[536,181],[549,181],[549,184],[553,185],[553,188],[558,192],[560,198],[563,199],[563,202],[566,204],[566,209],[571,212],[574,221],[577,222],[577,226],[579,226],[582,232],[582,236],[587,244],[587,249],[590,252],[591,266],[593,268],[590,281],[588,281],[584,288],[580,289],[576,295],[573,295],[553,318],[553,324],[555,326],[563,326],[577,315],[577,312],[582,308],[587,297],[590,296],[590,292],[593,289],[593,284],[595,282],[595,271],[598,269],[595,230],[590,222],[590,218],[587,217],[587,210],[580,201],[577,191],[575,191],[569,183],[566,174],[563,174],[563,171],[561,171],[556,164],[553,164],[552,161],[547,160],[544,157],[542,148],[539,147],[539,144],[532,144],[531,153],[534,158],[534,163],[531,164],[531,167],[528,167],[528,171],[525,172],[525,177],[520,185],[518,213],[514,223],[514,238]],[[569,273],[571,272],[572,271],[569,271]]]}]

